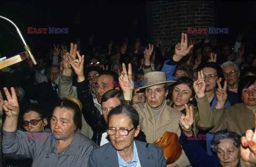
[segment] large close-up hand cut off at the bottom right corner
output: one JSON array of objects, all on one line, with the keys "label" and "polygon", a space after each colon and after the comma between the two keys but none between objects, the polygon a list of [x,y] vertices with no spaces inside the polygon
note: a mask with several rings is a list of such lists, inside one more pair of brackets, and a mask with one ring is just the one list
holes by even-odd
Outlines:
[{"label": "large close-up hand cut off at the bottom right corner", "polygon": [[[255,120],[256,120],[256,114]],[[255,121],[256,127],[256,121]],[[241,166],[256,166],[256,132],[246,130],[240,145]]]}]

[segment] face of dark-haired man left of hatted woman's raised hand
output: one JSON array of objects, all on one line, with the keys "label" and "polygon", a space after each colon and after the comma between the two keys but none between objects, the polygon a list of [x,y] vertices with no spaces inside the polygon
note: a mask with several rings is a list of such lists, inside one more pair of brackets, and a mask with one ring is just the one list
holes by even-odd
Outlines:
[{"label": "face of dark-haired man left of hatted woman's raised hand", "polygon": [[108,83],[113,84],[113,77],[109,75],[101,75],[96,81],[96,98],[98,103],[101,103],[101,97],[106,91],[114,89],[114,87],[109,87]]}]

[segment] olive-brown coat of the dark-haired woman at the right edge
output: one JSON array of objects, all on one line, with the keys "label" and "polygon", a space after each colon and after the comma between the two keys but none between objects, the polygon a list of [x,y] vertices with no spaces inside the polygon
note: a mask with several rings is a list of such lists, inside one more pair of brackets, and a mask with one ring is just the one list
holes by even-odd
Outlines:
[{"label": "olive-brown coat of the dark-haired woman at the right edge", "polygon": [[255,116],[253,111],[244,103],[233,106],[222,107],[213,110],[214,128],[210,131],[216,133],[220,130],[228,130],[242,135],[247,129],[255,127]]}]

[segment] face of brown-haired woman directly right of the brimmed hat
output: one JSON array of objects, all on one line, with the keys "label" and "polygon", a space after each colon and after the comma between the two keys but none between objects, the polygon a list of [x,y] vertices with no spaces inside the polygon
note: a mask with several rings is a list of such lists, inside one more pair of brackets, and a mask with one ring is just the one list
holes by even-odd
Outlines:
[{"label": "face of brown-haired woman directly right of the brimmed hat", "polygon": [[172,101],[175,106],[184,106],[193,100],[192,90],[186,84],[180,84],[173,87]]}]

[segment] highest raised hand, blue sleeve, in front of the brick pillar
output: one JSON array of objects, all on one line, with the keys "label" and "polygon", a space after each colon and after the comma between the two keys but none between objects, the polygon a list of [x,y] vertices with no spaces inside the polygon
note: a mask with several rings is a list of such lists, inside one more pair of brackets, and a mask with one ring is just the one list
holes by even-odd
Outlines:
[{"label": "highest raised hand, blue sleeve, in front of the brick pillar", "polygon": [[187,34],[181,33],[181,41],[180,43],[175,45],[175,55],[183,57],[186,56],[193,45],[188,46],[188,36]]}]

